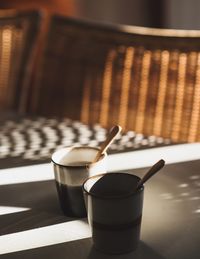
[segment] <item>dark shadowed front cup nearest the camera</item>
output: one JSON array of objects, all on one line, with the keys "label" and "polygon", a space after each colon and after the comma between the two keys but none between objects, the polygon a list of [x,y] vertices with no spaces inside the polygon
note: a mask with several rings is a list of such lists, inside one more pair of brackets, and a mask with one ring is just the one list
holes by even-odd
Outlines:
[{"label": "dark shadowed front cup nearest the camera", "polygon": [[128,173],[88,178],[83,193],[94,247],[108,254],[135,250],[140,240],[144,187]]}]

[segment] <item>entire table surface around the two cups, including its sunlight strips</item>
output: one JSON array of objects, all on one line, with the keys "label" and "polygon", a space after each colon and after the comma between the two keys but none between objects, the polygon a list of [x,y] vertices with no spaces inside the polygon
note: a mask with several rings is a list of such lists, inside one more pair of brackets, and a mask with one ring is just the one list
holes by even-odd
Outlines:
[{"label": "entire table surface around the two cups, including its sunlight strips", "polygon": [[114,257],[93,248],[86,219],[62,214],[51,164],[1,170],[1,257],[199,258],[199,143],[113,154],[108,169],[142,176],[160,158],[166,166],[145,185],[139,248]]}]

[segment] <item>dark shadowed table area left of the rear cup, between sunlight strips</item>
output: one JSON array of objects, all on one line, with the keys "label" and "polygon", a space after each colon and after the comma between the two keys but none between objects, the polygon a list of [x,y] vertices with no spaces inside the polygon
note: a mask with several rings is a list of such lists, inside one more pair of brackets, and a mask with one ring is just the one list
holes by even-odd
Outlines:
[{"label": "dark shadowed table area left of the rear cup, between sunlight strips", "polygon": [[0,186],[0,206],[30,209],[1,215],[0,235],[77,219],[62,213],[53,180]]}]

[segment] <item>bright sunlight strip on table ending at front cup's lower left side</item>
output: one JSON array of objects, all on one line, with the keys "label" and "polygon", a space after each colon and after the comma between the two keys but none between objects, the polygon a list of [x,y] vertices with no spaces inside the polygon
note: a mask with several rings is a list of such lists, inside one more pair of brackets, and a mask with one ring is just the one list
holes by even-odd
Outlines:
[{"label": "bright sunlight strip on table ending at front cup's lower left side", "polygon": [[56,245],[91,237],[86,220],[74,220],[0,236],[0,254]]}]

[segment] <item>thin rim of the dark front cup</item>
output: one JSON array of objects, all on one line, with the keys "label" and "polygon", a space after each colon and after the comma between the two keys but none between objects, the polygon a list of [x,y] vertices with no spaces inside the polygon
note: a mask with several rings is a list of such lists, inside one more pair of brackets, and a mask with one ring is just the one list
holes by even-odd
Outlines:
[{"label": "thin rim of the dark front cup", "polygon": [[102,173],[102,174],[96,174],[96,175],[93,175],[91,177],[88,177],[82,184],[82,191],[83,192],[86,192],[88,195],[91,195],[95,198],[98,198],[98,199],[104,199],[104,200],[112,200],[112,199],[124,199],[124,198],[127,198],[129,196],[132,196],[132,195],[136,195],[136,194],[139,194],[140,192],[142,192],[144,190],[144,184],[141,186],[140,189],[136,190],[136,191],[132,191],[130,193],[127,193],[127,194],[123,194],[123,195],[113,195],[113,196],[103,196],[103,195],[98,195],[98,194],[94,194],[92,192],[89,192],[86,190],[85,188],[85,184],[88,180],[92,179],[92,178],[96,178],[98,176],[104,176],[104,175],[107,175],[107,174],[121,174],[121,175],[128,175],[130,177],[135,177],[137,178],[138,180],[140,180],[141,178],[137,175],[134,175],[134,174],[130,174],[130,173],[122,173],[122,172],[110,172],[110,173]]}]

